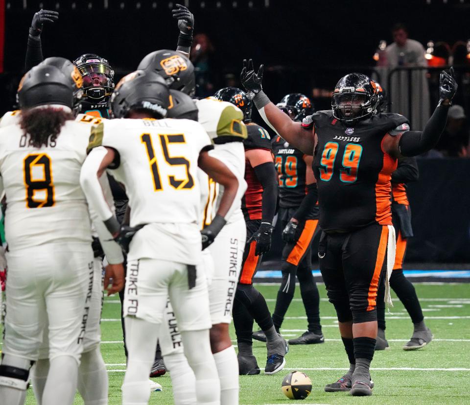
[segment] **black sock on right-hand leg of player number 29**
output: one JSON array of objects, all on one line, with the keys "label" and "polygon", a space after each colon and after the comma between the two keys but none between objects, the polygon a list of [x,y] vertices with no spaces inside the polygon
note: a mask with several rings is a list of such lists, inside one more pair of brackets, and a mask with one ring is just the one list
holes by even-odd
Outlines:
[{"label": "black sock on right-hand leg of player number 29", "polygon": [[300,293],[307,315],[308,331],[314,334],[322,334],[320,323],[320,294],[313,279],[310,268],[299,269],[297,272],[299,279]]}]

